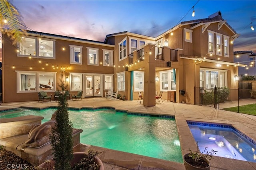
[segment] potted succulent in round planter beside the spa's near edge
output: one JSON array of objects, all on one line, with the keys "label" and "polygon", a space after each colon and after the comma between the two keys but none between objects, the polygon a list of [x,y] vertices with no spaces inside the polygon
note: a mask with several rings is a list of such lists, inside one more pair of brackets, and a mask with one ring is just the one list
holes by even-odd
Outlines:
[{"label": "potted succulent in round planter beside the spa's near edge", "polygon": [[[183,160],[186,170],[210,170],[210,159],[217,151],[206,151],[207,147],[201,153],[200,150],[193,152],[189,149],[190,153],[184,154]],[[205,153],[206,152],[206,153]]]}]

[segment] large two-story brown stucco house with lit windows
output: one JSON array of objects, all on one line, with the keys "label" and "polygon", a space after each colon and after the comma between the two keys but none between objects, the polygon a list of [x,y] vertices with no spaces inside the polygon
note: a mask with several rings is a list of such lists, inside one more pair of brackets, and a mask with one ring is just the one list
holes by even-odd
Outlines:
[{"label": "large two-story brown stucco house with lit windows", "polygon": [[[238,88],[234,79],[236,31],[216,12],[183,21],[157,37],[128,31],[106,35],[104,42],[28,31],[17,46],[3,35],[3,102],[38,100],[38,92],[54,94],[60,78],[71,94],[101,96],[108,88],[127,100],[155,106],[156,94],[169,101],[197,103],[197,88]],[[63,76],[62,76],[63,75]],[[185,91],[185,95],[179,93]],[[231,94],[230,98],[237,97]]]}]

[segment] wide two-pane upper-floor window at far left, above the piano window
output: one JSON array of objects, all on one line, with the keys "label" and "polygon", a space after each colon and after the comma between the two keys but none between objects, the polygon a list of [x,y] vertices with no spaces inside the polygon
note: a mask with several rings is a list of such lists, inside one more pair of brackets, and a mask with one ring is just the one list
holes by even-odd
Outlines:
[{"label": "wide two-pane upper-floor window at far left, above the piano window", "polygon": [[23,37],[24,42],[17,44],[18,57],[39,57],[55,59],[55,41],[38,37]]}]

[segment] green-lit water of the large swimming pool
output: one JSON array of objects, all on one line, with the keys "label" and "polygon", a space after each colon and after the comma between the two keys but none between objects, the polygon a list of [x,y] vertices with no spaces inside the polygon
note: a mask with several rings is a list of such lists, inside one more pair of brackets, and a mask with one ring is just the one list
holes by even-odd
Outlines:
[{"label": "green-lit water of the large swimming pool", "polygon": [[[1,118],[24,115],[50,120],[56,109],[1,113]],[[183,163],[174,119],[129,115],[113,109],[70,110],[74,128],[82,129],[80,143]]]}]

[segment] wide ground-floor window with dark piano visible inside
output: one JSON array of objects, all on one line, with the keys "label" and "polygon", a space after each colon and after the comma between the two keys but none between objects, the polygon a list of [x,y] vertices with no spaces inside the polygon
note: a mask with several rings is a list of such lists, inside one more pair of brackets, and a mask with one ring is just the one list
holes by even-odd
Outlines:
[{"label": "wide ground-floor window with dark piano visible inside", "polygon": [[56,72],[17,71],[17,92],[56,90]]}]

